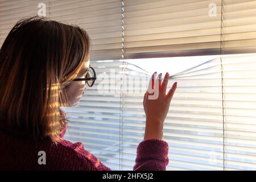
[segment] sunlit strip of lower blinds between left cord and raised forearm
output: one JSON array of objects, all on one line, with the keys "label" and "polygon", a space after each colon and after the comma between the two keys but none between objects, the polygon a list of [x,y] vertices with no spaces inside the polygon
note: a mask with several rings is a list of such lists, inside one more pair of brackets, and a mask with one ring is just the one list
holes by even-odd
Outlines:
[{"label": "sunlit strip of lower blinds between left cord and raised forearm", "polygon": [[122,75],[122,170],[133,170],[137,147],[144,138],[145,119],[143,111],[143,94],[150,77],[142,69],[126,63]]}]

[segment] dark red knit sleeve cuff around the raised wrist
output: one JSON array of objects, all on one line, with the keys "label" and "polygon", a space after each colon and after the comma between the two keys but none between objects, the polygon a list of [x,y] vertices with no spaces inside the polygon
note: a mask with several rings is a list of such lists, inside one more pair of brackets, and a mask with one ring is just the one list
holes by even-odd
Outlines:
[{"label": "dark red knit sleeve cuff around the raised wrist", "polygon": [[165,171],[168,163],[168,143],[161,139],[147,139],[137,147],[133,170]]}]

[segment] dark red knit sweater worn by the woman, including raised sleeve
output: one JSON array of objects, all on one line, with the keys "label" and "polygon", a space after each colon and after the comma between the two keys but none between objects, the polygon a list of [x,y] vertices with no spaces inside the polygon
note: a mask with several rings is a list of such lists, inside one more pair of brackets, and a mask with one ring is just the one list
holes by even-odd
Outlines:
[{"label": "dark red knit sweater worn by the woman, including raised sleeve", "polygon": [[[61,134],[64,137],[65,129]],[[81,142],[65,139],[57,145],[51,139],[36,143],[0,131],[0,170],[94,170],[109,171]],[[39,164],[39,151],[46,152],[46,164]],[[139,143],[134,171],[166,170],[169,162],[168,143],[160,139],[148,139]]]}]

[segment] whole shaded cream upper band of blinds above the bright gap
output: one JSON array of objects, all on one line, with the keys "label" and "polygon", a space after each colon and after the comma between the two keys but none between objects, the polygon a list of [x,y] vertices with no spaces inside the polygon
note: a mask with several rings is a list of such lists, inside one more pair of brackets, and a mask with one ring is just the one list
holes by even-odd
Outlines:
[{"label": "whole shaded cream upper band of blinds above the bright gap", "polygon": [[[42,1],[0,1],[0,45]],[[90,60],[253,53],[256,1],[47,0],[46,16],[77,24],[92,39]],[[122,9],[123,8],[123,9]],[[123,22],[122,22],[123,20]]]}]

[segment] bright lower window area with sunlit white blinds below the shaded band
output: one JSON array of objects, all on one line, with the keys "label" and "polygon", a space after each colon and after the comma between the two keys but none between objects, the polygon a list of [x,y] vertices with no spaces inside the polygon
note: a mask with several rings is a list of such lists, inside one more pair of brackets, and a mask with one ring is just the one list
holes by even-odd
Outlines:
[{"label": "bright lower window area with sunlit white blinds below the shaded band", "polygon": [[168,71],[169,88],[175,81],[178,88],[164,122],[167,170],[254,170],[256,55],[221,57],[91,63],[98,80],[79,105],[65,110],[72,117],[66,138],[84,142],[112,169],[132,170],[144,137],[148,79],[156,70]]}]

